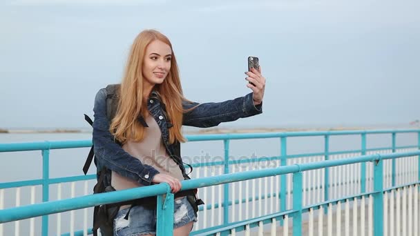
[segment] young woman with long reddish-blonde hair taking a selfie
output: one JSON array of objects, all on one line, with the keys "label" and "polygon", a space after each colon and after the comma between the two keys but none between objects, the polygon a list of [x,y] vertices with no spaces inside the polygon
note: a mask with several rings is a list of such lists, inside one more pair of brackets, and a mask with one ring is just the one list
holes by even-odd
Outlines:
[{"label": "young woman with long reddish-blonde hair taking a selfie", "polygon": [[[135,38],[122,83],[102,88],[95,97],[93,144],[97,167],[107,168],[105,186],[115,190],[168,183],[173,193],[188,179],[179,154],[182,125],[218,126],[262,112],[265,78],[260,68],[246,72],[245,97],[198,104],[182,95],[180,75],[169,39],[156,30]],[[115,94],[110,94],[115,90]],[[116,96],[117,95],[117,96]],[[117,98],[117,108],[107,103]],[[115,113],[111,115],[110,112]],[[177,152],[178,150],[178,152]],[[121,206],[114,218],[114,235],[155,235],[156,212],[135,204]],[[174,235],[189,235],[197,221],[187,197],[175,195]]]}]

